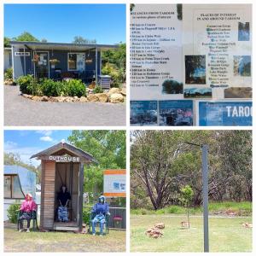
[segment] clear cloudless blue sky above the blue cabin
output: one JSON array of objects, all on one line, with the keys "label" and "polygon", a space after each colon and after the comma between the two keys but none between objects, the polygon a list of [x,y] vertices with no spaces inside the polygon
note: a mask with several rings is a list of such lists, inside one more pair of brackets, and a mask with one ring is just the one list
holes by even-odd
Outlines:
[{"label": "clear cloudless blue sky above the blue cabin", "polygon": [[125,4],[4,4],[4,36],[26,31],[39,40],[71,43],[75,36],[97,44],[125,42]]}]

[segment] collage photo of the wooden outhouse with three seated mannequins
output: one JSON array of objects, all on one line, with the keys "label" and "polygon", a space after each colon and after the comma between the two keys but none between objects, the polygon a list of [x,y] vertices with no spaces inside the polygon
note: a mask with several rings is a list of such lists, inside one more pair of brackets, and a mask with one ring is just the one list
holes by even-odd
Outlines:
[{"label": "collage photo of the wooden outhouse with three seated mannequins", "polygon": [[5,130],[4,252],[125,252],[125,133]]}]

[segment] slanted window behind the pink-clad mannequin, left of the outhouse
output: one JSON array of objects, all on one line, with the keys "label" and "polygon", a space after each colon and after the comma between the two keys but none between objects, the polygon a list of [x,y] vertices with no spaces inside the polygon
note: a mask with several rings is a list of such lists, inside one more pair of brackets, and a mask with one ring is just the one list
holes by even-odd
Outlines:
[{"label": "slanted window behind the pink-clad mannequin, left of the outhouse", "polygon": [[4,198],[21,199],[24,195],[17,175],[4,175]]}]

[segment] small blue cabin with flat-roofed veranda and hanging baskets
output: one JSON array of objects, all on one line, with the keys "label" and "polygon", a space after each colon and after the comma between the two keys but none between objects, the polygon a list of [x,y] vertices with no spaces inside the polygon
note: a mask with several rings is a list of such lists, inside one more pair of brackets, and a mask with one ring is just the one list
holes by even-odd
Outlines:
[{"label": "small blue cabin with flat-roofed veranda and hanging baskets", "polygon": [[37,79],[81,79],[85,84],[102,80],[102,52],[118,48],[111,44],[25,41],[11,41],[10,45],[14,79],[32,74]]}]

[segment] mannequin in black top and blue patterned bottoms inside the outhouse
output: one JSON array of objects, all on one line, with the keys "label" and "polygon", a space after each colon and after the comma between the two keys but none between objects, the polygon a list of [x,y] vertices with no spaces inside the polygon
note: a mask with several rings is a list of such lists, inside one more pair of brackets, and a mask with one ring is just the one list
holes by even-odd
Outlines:
[{"label": "mannequin in black top and blue patterned bottoms inside the outhouse", "polygon": [[71,200],[71,195],[67,191],[66,185],[61,186],[61,190],[57,195],[57,200],[60,203],[60,206],[58,207],[58,220],[61,222],[68,222],[68,201]]}]

